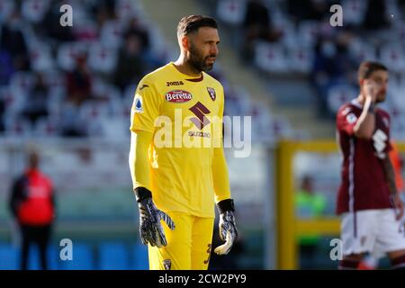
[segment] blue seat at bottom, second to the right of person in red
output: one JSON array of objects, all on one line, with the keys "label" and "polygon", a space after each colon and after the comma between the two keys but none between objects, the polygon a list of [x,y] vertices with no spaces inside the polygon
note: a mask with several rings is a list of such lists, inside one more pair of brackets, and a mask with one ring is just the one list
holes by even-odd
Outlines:
[{"label": "blue seat at bottom, second to the right of person in red", "polygon": [[129,253],[124,244],[119,242],[105,242],[99,246],[101,270],[130,269]]}]

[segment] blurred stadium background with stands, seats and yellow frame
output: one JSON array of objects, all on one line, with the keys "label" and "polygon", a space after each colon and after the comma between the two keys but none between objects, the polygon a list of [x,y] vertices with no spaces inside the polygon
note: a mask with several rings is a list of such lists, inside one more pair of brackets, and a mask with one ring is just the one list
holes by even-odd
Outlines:
[{"label": "blurred stadium background with stands, seats and yellow frame", "polygon": [[[59,25],[62,4],[73,8],[73,27]],[[343,27],[329,24],[332,4],[343,7]],[[334,113],[356,97],[358,64],[379,59],[391,70],[383,105],[392,139],[405,139],[403,0],[0,0],[0,269],[18,268],[7,198],[30,148],[57,189],[50,267],[148,267],[127,164],[130,105],[140,77],[177,57],[186,14],[218,19],[211,75],[225,87],[226,114],[252,116],[251,156],[227,150],[238,247],[212,257],[211,269],[337,266]],[[294,198],[308,177],[323,199],[310,220]],[[300,233],[317,238],[310,256]],[[74,261],[58,260],[62,238],[72,239]]]}]

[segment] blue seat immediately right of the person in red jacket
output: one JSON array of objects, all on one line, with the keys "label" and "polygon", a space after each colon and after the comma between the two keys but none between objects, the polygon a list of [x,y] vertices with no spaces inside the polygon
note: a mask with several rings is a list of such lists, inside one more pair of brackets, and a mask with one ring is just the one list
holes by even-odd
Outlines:
[{"label": "blue seat immediately right of the person in red jacket", "polygon": [[73,259],[60,261],[62,270],[92,270],[94,269],[94,254],[92,247],[85,243],[73,244]]}]

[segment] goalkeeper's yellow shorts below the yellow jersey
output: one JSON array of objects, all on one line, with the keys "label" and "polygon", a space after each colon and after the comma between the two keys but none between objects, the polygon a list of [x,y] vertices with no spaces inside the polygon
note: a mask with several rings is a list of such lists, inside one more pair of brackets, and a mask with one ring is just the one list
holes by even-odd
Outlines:
[{"label": "goalkeeper's yellow shorts below the yellow jersey", "polygon": [[165,231],[167,246],[148,245],[150,270],[207,270],[211,257],[214,218],[201,218],[181,212],[167,212],[175,229]]}]

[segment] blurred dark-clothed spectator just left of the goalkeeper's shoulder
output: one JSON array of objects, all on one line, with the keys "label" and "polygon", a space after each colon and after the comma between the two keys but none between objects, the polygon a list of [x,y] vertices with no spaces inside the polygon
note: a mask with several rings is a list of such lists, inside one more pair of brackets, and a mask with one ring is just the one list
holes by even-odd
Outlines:
[{"label": "blurred dark-clothed spectator just left of the goalkeeper's shoulder", "polygon": [[139,34],[130,32],[120,51],[114,83],[123,91],[128,85],[139,83],[140,78],[147,72],[150,71],[142,55],[142,40]]}]

